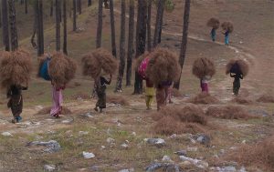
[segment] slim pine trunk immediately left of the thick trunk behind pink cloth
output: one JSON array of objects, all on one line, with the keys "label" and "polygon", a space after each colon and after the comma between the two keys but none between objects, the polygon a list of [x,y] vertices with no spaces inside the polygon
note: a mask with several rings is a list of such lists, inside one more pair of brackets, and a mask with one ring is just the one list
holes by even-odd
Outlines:
[{"label": "slim pine trunk immediately left of the thick trunk behind pink cloth", "polygon": [[130,0],[130,19],[129,19],[129,41],[128,41],[128,58],[127,58],[127,76],[126,86],[132,85],[132,56],[133,56],[133,39],[134,39],[134,0]]}]

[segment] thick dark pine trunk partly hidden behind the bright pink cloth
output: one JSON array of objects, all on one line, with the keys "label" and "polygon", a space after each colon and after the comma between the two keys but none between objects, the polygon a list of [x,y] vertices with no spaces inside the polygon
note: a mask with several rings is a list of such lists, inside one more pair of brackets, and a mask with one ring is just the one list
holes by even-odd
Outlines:
[{"label": "thick dark pine trunk partly hidden behind the bright pink cloth", "polygon": [[[146,43],[146,19],[147,5],[146,0],[138,0],[138,16],[136,28],[136,58],[141,56],[145,51]],[[135,71],[134,93],[142,94],[142,79],[138,72]]]}]

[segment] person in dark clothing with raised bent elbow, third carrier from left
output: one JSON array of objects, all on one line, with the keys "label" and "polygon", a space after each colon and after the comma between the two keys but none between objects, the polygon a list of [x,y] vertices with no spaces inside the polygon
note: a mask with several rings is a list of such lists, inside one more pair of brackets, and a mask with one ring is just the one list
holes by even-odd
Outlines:
[{"label": "person in dark clothing with raised bent elbow, third carrier from left", "polygon": [[[112,76],[111,76],[112,78]],[[107,102],[107,97],[106,97],[106,85],[111,84],[111,78],[108,81],[106,78],[103,76],[100,76],[100,78],[96,81],[95,84],[95,90],[98,96],[98,101],[96,103],[96,106],[94,108],[95,111],[98,111],[98,107],[100,108],[100,113],[102,113],[102,109],[106,108],[106,102]]]}]

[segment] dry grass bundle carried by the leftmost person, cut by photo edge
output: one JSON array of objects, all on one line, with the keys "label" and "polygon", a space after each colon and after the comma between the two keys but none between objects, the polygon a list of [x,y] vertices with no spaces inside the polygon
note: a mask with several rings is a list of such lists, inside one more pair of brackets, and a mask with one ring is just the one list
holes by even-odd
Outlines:
[{"label": "dry grass bundle carried by the leftmost person, cut by photo edge", "polygon": [[26,85],[32,71],[32,58],[25,50],[1,52],[0,82],[3,88]]}]

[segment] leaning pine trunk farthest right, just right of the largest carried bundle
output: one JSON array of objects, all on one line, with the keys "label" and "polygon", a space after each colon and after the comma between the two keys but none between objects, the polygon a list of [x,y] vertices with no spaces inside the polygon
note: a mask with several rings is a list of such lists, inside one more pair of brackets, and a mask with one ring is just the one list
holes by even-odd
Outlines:
[{"label": "leaning pine trunk farthest right, just right of the largest carried bundle", "polygon": [[184,59],[185,59],[185,52],[186,52],[186,45],[187,45],[187,35],[188,35],[188,23],[189,23],[189,12],[190,12],[190,0],[185,0],[184,3],[184,28],[183,28],[183,37],[182,37],[182,45],[181,45],[181,52],[180,52],[180,59],[179,63],[182,67],[181,74],[179,81],[174,83],[174,88],[180,88],[180,80],[182,76],[182,70],[184,66]]}]

